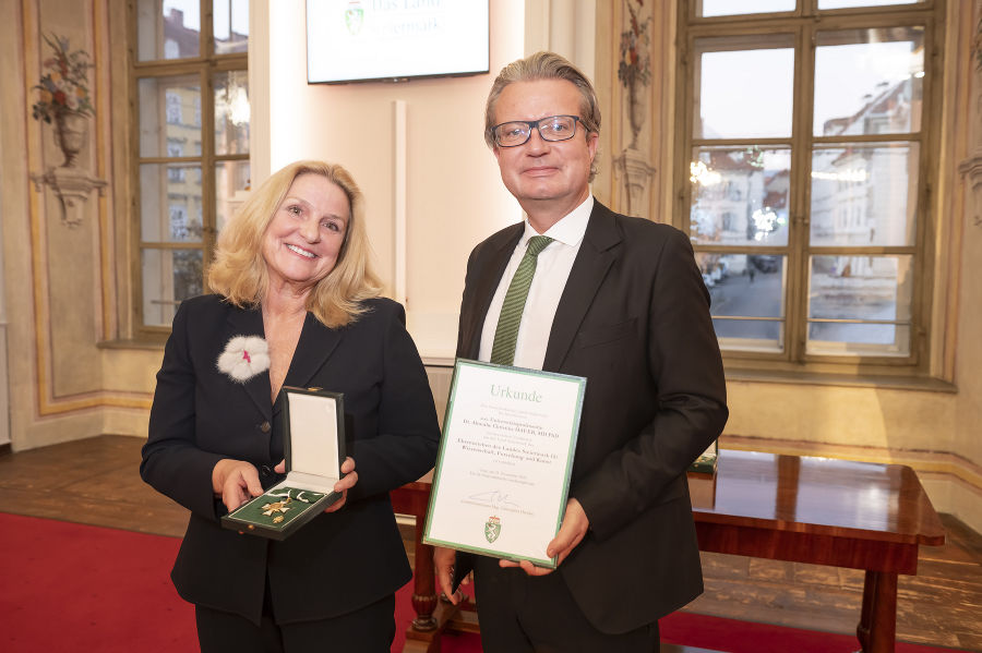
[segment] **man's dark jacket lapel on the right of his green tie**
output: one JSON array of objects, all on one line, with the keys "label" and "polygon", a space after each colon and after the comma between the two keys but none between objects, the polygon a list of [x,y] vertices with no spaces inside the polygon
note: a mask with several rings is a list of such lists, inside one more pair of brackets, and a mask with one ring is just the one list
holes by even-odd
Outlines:
[{"label": "man's dark jacket lapel on the right of his green tie", "polygon": [[607,271],[616,259],[614,247],[621,240],[613,214],[599,202],[595,202],[583,244],[573,262],[570,278],[555,310],[555,318],[549,331],[549,344],[546,348],[546,360],[542,363],[543,370],[562,368],[579,325],[594,302]]}]

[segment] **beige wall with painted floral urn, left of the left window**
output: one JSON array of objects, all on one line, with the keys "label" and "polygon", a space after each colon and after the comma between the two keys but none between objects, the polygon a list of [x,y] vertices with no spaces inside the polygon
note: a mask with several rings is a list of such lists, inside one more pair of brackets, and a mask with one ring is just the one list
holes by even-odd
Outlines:
[{"label": "beige wall with painted floral urn, left of the left window", "polygon": [[106,0],[16,4],[0,24],[2,40],[22,44],[4,71],[5,88],[19,94],[3,124],[20,129],[4,133],[0,180],[12,199],[4,266],[16,270],[4,286],[8,347],[17,352],[9,364],[15,450],[139,433],[130,424],[144,422],[149,406],[145,361],[158,358],[103,344],[119,334],[117,280],[128,273],[117,265],[117,228],[129,215],[120,192],[130,135],[127,12]]}]

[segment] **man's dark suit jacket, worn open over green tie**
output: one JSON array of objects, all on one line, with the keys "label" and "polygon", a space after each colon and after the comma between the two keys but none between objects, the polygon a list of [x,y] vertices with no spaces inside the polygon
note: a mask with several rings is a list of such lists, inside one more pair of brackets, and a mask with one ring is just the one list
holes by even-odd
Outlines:
[{"label": "man's dark suit jacket, worn open over green tie", "polygon": [[[503,229],[471,253],[458,356],[478,356],[522,232]],[[599,630],[650,624],[703,590],[685,471],[728,416],[709,294],[685,234],[595,202],[543,368],[587,378],[570,495],[590,529],[559,572]],[[469,560],[457,556],[459,575]]]}]

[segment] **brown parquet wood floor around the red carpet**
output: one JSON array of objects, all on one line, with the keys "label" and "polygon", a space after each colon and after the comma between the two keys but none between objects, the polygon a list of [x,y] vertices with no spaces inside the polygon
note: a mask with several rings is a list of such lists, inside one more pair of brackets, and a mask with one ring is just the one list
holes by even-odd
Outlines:
[{"label": "brown parquet wood floor around the red carpet", "polygon": [[[0,456],[0,510],[180,536],[187,511],[141,481],[142,444],[101,436]],[[918,576],[900,577],[897,637],[982,653],[982,535],[950,516],[942,521],[947,543],[921,547]],[[686,609],[854,632],[861,571],[720,554],[704,554],[703,570],[706,592]]]}]

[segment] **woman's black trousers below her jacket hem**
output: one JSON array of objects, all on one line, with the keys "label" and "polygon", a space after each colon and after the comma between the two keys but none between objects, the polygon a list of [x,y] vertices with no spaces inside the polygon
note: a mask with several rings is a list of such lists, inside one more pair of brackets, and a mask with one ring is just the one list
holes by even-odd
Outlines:
[{"label": "woman's black trousers below her jacket hem", "polygon": [[296,624],[277,625],[268,600],[259,626],[201,605],[194,615],[202,653],[390,653],[395,638],[395,595],[331,619]]}]

